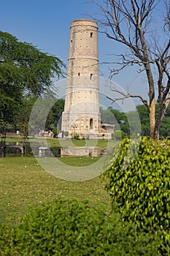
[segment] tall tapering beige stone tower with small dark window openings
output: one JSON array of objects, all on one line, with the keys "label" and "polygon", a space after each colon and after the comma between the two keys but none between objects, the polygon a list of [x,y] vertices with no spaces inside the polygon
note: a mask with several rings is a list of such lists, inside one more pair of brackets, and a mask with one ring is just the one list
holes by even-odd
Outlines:
[{"label": "tall tapering beige stone tower with small dark window openings", "polygon": [[73,20],[61,129],[69,135],[95,137],[100,125],[98,24],[94,20]]}]

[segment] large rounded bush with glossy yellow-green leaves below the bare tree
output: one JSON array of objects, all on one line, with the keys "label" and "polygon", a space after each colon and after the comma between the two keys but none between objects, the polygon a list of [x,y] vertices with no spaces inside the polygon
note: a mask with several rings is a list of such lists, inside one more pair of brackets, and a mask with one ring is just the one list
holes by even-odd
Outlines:
[{"label": "large rounded bush with glossy yellow-green leaves below the bare tree", "polygon": [[[136,156],[134,156],[136,152]],[[144,232],[170,245],[170,141],[125,138],[104,172],[112,207]]]}]

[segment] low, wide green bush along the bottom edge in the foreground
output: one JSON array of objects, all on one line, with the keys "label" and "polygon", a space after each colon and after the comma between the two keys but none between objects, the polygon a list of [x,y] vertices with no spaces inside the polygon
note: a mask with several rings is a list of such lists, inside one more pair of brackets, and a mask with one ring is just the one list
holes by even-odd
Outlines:
[{"label": "low, wide green bush along the bottom edge in the foreground", "polygon": [[156,255],[156,238],[137,234],[103,209],[76,200],[34,208],[15,227],[1,227],[1,255]]}]

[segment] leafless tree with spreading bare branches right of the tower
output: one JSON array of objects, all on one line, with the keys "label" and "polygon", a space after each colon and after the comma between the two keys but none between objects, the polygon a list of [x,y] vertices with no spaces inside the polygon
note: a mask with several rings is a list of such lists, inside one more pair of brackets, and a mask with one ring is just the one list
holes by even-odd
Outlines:
[{"label": "leafless tree with spreading bare branches right of the tower", "polygon": [[[147,106],[150,116],[150,136],[159,138],[159,129],[166,108],[170,102],[170,1],[169,0],[107,0],[103,4],[93,1],[101,10],[99,20],[103,33],[109,39],[123,44],[128,53],[120,53],[115,61],[111,76],[116,75],[125,67],[137,65],[139,72],[145,72],[148,83],[148,98],[141,95],[120,93],[114,102],[128,97],[138,97]],[[159,19],[161,35],[158,27],[154,27],[154,18]],[[159,36],[159,37],[158,37]],[[114,66],[114,65],[113,65]],[[138,85],[136,85],[138,86]],[[158,99],[155,90],[158,89]],[[155,117],[155,102],[159,104],[158,116]]]}]

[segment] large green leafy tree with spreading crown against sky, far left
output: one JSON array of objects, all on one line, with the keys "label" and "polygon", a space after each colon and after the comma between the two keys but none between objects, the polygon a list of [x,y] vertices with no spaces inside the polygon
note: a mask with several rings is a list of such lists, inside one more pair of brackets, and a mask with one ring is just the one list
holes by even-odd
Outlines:
[{"label": "large green leafy tree with spreading crown against sky, far left", "polygon": [[63,62],[19,42],[7,32],[0,31],[0,119],[10,123],[20,110],[23,95],[39,96],[53,85],[52,78],[63,76]]}]

